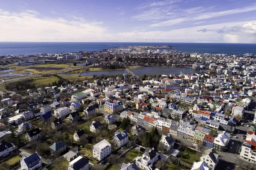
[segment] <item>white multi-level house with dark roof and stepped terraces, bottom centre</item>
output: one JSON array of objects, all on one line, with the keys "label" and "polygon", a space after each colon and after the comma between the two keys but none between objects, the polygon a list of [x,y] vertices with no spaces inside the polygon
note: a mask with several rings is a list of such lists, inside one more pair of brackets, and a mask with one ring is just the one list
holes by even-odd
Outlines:
[{"label": "white multi-level house with dark roof and stepped terraces, bottom centre", "polygon": [[154,148],[147,147],[145,153],[136,157],[136,165],[143,170],[152,170],[152,166],[158,161],[158,151]]}]

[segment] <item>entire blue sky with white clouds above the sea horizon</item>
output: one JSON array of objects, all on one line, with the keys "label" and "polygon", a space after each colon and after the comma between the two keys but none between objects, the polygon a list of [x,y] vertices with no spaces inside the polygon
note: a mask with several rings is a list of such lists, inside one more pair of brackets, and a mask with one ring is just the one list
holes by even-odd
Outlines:
[{"label": "entire blue sky with white clouds above the sea horizon", "polygon": [[0,41],[256,43],[256,1],[0,0]]}]

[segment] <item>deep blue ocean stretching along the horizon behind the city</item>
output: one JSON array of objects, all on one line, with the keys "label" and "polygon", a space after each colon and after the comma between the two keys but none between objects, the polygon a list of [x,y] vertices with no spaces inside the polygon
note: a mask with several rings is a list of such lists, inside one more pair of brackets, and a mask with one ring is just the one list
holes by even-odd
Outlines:
[{"label": "deep blue ocean stretching along the horizon behind the city", "polygon": [[118,46],[172,46],[172,50],[183,53],[198,52],[210,54],[239,55],[256,54],[256,44],[245,43],[112,43],[112,42],[0,42],[0,55],[27,55],[79,51],[99,51]]}]

